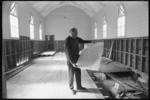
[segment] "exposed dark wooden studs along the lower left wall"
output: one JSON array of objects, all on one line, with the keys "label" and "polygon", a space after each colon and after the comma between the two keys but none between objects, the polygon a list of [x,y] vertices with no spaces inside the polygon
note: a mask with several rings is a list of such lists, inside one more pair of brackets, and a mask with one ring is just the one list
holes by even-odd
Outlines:
[{"label": "exposed dark wooden studs along the lower left wall", "polygon": [[20,36],[20,40],[4,39],[5,72],[14,69],[32,59],[33,52],[29,37]]}]

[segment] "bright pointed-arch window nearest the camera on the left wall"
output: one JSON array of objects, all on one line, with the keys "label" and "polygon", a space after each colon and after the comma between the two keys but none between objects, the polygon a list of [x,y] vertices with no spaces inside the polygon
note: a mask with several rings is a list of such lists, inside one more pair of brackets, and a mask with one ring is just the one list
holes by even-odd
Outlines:
[{"label": "bright pointed-arch window nearest the camera on the left wall", "polygon": [[18,11],[17,4],[13,2],[10,6],[10,30],[11,37],[19,38]]}]

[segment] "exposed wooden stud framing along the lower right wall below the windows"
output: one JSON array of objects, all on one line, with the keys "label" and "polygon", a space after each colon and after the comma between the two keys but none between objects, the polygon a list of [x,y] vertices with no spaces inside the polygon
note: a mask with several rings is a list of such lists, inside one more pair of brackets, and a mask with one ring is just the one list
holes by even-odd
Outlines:
[{"label": "exposed wooden stud framing along the lower right wall below the windows", "polygon": [[111,43],[114,40],[111,59],[148,74],[149,38],[119,38],[104,41],[103,56],[108,57]]}]

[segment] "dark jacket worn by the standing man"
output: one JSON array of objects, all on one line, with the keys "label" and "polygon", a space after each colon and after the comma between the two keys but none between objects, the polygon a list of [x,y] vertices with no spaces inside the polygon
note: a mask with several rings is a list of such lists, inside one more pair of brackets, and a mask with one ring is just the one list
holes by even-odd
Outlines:
[{"label": "dark jacket worn by the standing man", "polygon": [[70,61],[71,64],[75,64],[79,58],[79,43],[91,43],[91,41],[83,40],[79,37],[75,39],[71,36],[68,36],[65,40],[65,52],[67,55],[67,61]]}]

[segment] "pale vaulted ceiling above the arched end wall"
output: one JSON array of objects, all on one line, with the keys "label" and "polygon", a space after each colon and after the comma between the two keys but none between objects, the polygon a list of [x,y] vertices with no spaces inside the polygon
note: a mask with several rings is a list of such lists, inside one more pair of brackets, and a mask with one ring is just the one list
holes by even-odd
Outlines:
[{"label": "pale vaulted ceiling above the arched end wall", "polygon": [[[28,1],[43,17],[49,15],[54,9],[71,5],[83,10],[87,15],[93,17],[106,4],[112,4],[110,1]],[[113,1],[113,4],[118,2]]]}]

